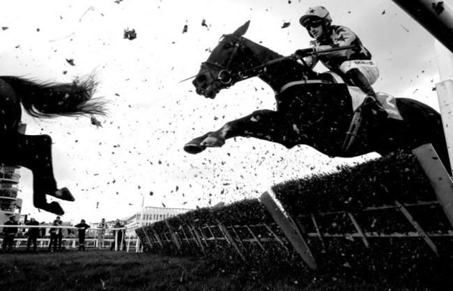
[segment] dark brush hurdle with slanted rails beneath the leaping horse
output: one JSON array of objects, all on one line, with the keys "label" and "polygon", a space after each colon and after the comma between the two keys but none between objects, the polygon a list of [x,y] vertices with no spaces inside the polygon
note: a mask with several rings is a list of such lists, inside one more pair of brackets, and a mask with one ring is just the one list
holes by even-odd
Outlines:
[{"label": "dark brush hurdle with slanted rails beneath the leaping horse", "polygon": [[201,208],[136,232],[144,250],[153,253],[307,271],[404,270],[402,276],[434,280],[433,266],[451,265],[453,227],[431,184],[415,155],[401,152],[275,185],[269,192],[282,205],[282,221],[273,206],[263,204],[266,192],[263,203],[248,199]]}]

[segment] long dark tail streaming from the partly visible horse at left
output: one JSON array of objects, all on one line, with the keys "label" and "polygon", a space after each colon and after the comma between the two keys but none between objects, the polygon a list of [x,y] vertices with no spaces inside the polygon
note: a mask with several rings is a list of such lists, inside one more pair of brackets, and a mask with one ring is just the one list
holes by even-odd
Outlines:
[{"label": "long dark tail streaming from the partly visible horse at left", "polygon": [[93,98],[96,88],[93,74],[72,83],[38,82],[21,77],[0,77],[16,92],[31,116],[107,116],[106,101]]}]

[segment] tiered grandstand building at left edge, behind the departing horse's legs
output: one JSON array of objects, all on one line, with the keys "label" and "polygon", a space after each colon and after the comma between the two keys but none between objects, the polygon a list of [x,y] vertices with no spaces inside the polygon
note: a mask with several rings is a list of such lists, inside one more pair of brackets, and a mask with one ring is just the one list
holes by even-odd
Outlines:
[{"label": "tiered grandstand building at left edge, behind the departing horse's legs", "polygon": [[[20,125],[19,132],[24,134],[25,127]],[[21,174],[20,166],[0,164],[0,224],[12,215],[17,221],[21,219],[22,199],[17,198]]]}]

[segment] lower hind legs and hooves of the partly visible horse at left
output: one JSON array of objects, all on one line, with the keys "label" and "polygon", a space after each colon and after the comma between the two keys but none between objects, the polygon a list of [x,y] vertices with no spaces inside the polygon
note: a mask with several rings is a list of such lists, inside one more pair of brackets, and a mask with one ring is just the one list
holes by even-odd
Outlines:
[{"label": "lower hind legs and hooves of the partly visible horse at left", "polygon": [[26,136],[18,134],[18,164],[33,173],[33,204],[35,207],[63,214],[59,203],[47,203],[46,194],[73,201],[68,189],[57,189],[52,166],[52,139],[47,135]]}]

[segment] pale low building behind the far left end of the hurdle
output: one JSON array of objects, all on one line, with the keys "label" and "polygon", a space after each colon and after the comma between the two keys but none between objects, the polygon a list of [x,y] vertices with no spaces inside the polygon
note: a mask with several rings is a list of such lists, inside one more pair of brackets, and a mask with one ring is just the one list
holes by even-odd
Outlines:
[{"label": "pale low building behind the far left end of the hurdle", "polygon": [[176,215],[191,211],[190,208],[167,208],[167,207],[144,207],[143,211],[139,211],[126,219],[127,226],[126,235],[135,235],[135,229],[140,226],[148,226],[155,221],[164,220]]}]

